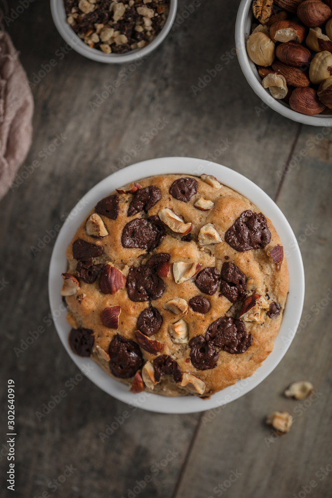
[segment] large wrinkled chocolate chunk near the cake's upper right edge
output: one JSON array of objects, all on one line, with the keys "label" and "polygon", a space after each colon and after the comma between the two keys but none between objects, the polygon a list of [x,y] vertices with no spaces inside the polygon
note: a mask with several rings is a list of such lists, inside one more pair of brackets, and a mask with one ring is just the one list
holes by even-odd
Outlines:
[{"label": "large wrinkled chocolate chunk near the cake's upper right edge", "polygon": [[267,221],[262,213],[243,211],[225,233],[225,241],[233,249],[243,252],[265,248],[271,240]]}]

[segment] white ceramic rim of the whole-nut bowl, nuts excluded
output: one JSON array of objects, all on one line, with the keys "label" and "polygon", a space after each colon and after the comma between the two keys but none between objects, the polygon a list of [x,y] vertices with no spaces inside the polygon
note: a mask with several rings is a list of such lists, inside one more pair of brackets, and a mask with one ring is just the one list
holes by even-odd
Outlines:
[{"label": "white ceramic rim of the whole-nut bowl, nuts excluded", "polygon": [[258,97],[265,102],[271,109],[277,113],[303,124],[312,124],[313,126],[332,126],[332,114],[317,114],[316,116],[305,116],[304,114],[296,113],[288,104],[281,100],[274,99],[269,90],[262,87],[261,77],[258,74],[255,64],[249,59],[246,51],[246,41],[251,31],[251,24],[258,21],[252,13],[252,0],[242,0],[238,7],[236,24],[235,24],[235,44],[237,58],[240,63],[242,72]]}]

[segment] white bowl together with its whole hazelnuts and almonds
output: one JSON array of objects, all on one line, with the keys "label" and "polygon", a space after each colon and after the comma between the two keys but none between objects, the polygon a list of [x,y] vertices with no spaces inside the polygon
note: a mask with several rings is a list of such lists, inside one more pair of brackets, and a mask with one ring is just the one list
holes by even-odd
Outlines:
[{"label": "white bowl together with its whole hazelnuts and almonds", "polygon": [[242,0],[235,41],[263,103],[293,121],[332,126],[332,0]]}]

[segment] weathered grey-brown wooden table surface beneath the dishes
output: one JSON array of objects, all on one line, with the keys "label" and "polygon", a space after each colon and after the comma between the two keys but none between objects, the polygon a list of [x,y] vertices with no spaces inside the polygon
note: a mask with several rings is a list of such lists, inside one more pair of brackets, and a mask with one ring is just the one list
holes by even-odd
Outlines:
[{"label": "weathered grey-brown wooden table surface beneath the dishes", "polygon": [[[234,56],[238,0],[200,0],[134,69],[62,51],[48,3],[34,1],[8,27],[34,78],[33,144],[19,175],[33,161],[39,166],[19,176],[0,204],[0,497],[331,497],[332,129],[262,107]],[[186,4],[180,0],[178,12]],[[34,74],[51,59],[56,64],[38,82]],[[195,95],[192,87],[219,63],[222,70]],[[119,78],[110,97],[91,104]],[[159,120],[164,126],[152,136]],[[210,158],[256,182],[288,218],[306,274],[302,321],[275,371],[222,409],[189,415],[132,410],[80,375],[68,387],[79,371],[48,319],[55,238],[31,249],[105,176],[171,155]],[[40,326],[45,332],[17,355],[14,348]],[[16,386],[15,493],[6,484],[7,378]],[[315,386],[305,403],[283,396],[295,380]],[[67,396],[38,419],[63,389]],[[288,435],[275,437],[265,425],[274,410],[294,416]],[[102,441],[115,417],[123,423]]]}]

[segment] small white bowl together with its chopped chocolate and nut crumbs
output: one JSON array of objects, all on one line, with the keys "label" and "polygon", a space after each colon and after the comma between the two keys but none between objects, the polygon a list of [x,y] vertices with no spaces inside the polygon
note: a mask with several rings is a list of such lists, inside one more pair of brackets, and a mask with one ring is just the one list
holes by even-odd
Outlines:
[{"label": "small white bowl together with its chopped chocolate and nut crumbs", "polygon": [[141,64],[169,33],[177,0],[51,0],[54,24],[76,52]]}]

